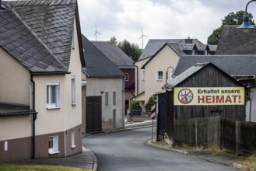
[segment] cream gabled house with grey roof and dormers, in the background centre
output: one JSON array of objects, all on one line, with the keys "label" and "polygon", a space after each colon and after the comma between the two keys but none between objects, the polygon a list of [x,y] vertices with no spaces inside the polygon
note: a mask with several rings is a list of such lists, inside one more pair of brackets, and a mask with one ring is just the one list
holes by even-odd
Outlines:
[{"label": "cream gabled house with grey roof and dormers, in the background centre", "polygon": [[150,96],[164,92],[163,85],[172,79],[172,72],[181,55],[209,54],[209,45],[197,39],[149,40],[135,62],[135,99],[142,110]]}]

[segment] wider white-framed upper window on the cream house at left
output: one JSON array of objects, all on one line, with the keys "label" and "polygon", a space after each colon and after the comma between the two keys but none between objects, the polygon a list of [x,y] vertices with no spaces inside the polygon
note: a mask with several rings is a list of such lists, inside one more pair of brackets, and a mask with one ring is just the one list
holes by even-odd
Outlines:
[{"label": "wider white-framed upper window on the cream house at left", "polygon": [[60,82],[47,82],[47,109],[60,107]]}]

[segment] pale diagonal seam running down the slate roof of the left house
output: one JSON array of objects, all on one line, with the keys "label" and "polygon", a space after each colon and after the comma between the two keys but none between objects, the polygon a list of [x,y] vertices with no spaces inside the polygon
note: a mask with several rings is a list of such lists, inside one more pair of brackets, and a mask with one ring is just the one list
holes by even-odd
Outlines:
[{"label": "pale diagonal seam running down the slate roof of the left house", "polygon": [[57,60],[60,62],[60,64],[62,65],[62,67],[64,67],[66,70],[68,70],[68,68],[61,62],[61,60],[51,51],[51,49],[49,47],[47,47],[46,44],[44,44],[44,41],[40,39],[40,37],[37,36],[37,33],[35,33],[31,27],[22,19],[21,16],[19,16],[18,12],[15,11],[15,9],[13,9],[9,3],[5,3],[9,9],[12,10],[12,12],[14,13],[14,15],[21,21],[21,23],[23,23],[24,26],[26,26],[26,29],[30,30],[30,32],[33,34],[33,36],[39,41],[39,43]]}]

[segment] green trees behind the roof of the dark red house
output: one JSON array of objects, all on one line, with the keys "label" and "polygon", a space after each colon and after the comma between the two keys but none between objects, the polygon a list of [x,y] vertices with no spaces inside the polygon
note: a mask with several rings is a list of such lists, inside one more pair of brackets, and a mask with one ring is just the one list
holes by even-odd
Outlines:
[{"label": "green trees behind the roof of the dark red house", "polygon": [[117,44],[115,37],[110,38],[112,44],[116,44],[125,54],[127,54],[133,61],[138,61],[139,56],[142,54],[142,50],[138,44],[131,44],[128,40],[123,40]]}]

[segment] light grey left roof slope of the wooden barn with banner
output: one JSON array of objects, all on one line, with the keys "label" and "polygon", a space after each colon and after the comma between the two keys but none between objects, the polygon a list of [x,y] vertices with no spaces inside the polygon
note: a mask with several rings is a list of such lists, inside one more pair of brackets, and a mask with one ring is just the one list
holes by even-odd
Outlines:
[{"label": "light grey left roof slope of the wooden barn with banner", "polygon": [[190,77],[191,75],[194,75],[195,72],[198,72],[200,69],[204,68],[206,65],[209,65],[209,62],[206,63],[197,63],[195,65],[192,65],[190,68],[188,68],[186,71],[182,72],[180,75],[175,77],[171,80],[170,83],[167,83],[165,87],[167,89],[172,89],[175,86],[177,86],[179,83],[183,82],[185,79]]}]

